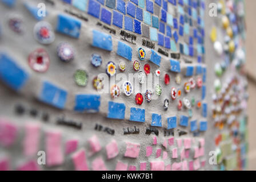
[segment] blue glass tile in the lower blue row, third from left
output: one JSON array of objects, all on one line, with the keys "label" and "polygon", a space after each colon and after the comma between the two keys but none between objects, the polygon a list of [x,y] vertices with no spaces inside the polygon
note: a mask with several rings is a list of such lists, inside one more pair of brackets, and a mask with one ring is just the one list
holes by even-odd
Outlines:
[{"label": "blue glass tile in the lower blue row, third from left", "polygon": [[93,94],[79,94],[75,96],[74,110],[78,112],[97,113],[101,105],[101,96]]}]

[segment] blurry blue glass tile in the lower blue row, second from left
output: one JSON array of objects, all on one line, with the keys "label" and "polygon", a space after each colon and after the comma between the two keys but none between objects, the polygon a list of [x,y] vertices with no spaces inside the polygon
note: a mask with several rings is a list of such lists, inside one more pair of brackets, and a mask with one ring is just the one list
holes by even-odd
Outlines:
[{"label": "blurry blue glass tile in the lower blue row, second from left", "polygon": [[66,90],[58,88],[54,84],[45,81],[43,82],[39,100],[59,109],[63,109],[67,100],[67,92]]}]

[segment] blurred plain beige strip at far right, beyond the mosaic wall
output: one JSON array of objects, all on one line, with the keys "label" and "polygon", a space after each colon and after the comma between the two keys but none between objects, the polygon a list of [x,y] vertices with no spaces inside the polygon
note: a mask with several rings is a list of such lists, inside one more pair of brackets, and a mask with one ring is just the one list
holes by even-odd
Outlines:
[{"label": "blurred plain beige strip at far right, beyond the mosaic wall", "polygon": [[249,82],[249,102],[248,102],[248,114],[249,114],[249,154],[248,154],[248,169],[256,170],[256,1],[246,0],[246,70]]}]

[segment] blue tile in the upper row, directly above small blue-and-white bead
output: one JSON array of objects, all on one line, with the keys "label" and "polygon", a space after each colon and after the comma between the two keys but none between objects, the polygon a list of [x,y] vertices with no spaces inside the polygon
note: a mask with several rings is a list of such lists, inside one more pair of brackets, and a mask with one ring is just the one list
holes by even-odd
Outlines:
[{"label": "blue tile in the upper row, directly above small blue-and-white bead", "polygon": [[112,51],[112,38],[110,35],[93,30],[93,44],[92,46]]}]

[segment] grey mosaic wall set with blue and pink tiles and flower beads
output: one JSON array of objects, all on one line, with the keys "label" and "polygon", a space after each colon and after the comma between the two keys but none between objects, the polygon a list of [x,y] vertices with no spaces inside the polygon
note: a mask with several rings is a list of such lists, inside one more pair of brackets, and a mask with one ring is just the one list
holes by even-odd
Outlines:
[{"label": "grey mosaic wall set with blue and pink tiles and flower beads", "polygon": [[243,1],[0,2],[0,170],[246,168]]}]

